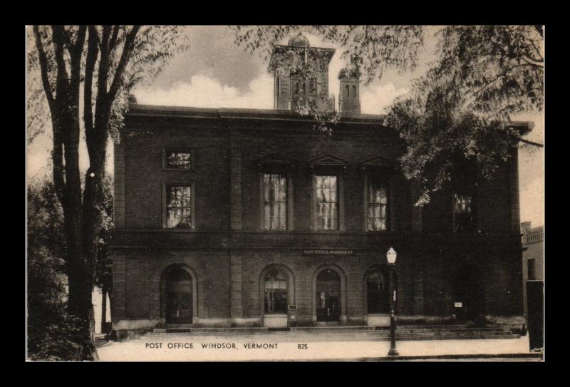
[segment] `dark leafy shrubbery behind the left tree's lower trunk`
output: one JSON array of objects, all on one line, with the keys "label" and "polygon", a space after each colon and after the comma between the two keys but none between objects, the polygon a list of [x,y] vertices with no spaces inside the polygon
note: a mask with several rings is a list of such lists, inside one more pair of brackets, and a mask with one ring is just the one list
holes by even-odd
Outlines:
[{"label": "dark leafy shrubbery behind the left tree's lower trunk", "polygon": [[[108,232],[113,227],[113,181],[105,179],[103,224],[99,238],[95,284],[110,284]],[[63,210],[53,182],[28,185],[28,356],[32,360],[81,360],[76,337],[81,321],[66,312],[68,287]]]}]

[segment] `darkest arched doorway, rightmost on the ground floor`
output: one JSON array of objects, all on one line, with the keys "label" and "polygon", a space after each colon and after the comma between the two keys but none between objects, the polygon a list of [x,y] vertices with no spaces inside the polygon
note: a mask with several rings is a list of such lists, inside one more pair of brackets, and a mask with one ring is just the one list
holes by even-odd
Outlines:
[{"label": "darkest arched doorway, rightmost on the ground floor", "polygon": [[455,275],[455,314],[460,321],[479,321],[484,316],[482,276],[473,265],[462,267]]}]

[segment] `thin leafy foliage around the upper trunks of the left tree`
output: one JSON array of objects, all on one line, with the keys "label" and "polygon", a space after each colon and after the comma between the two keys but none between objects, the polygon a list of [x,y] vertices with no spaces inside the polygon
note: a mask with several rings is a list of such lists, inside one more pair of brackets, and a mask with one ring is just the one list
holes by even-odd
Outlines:
[{"label": "thin leafy foliage around the upper trunks of the left tree", "polygon": [[[103,26],[93,26],[93,32],[98,34],[98,44],[103,37]],[[108,26],[110,27],[110,26]],[[110,31],[113,46],[109,52],[108,77],[113,79],[120,63],[121,54],[125,46],[128,33],[132,26],[114,26]],[[65,29],[66,41],[70,44],[76,40],[79,26],[67,26]],[[57,63],[53,50],[53,36],[49,26],[38,26],[38,31],[43,41],[46,53],[48,84],[51,91],[56,91]],[[34,42],[34,34],[28,33],[28,61],[27,61],[27,88],[28,88],[28,143],[43,130],[49,119],[49,110],[46,95],[43,91],[41,72],[39,71],[38,49]],[[110,118],[110,134],[118,140],[118,129],[123,122],[123,113],[128,105],[128,94],[138,85],[152,83],[160,74],[170,59],[188,48],[187,36],[183,33],[182,26],[142,26],[134,41],[133,54],[126,63],[124,76],[118,78],[118,94],[112,105]],[[100,60],[100,57],[98,58]],[[84,50],[81,58],[81,81],[85,81],[87,63],[87,51]],[[93,67],[93,85],[97,85],[100,63],[97,61]],[[66,63],[69,66],[69,63]],[[93,93],[92,103],[95,106],[97,93]]]}]

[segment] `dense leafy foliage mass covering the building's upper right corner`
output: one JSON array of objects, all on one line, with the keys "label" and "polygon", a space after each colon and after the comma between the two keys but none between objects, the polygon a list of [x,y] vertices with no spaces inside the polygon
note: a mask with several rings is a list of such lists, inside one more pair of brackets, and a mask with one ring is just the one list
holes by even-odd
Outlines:
[{"label": "dense leafy foliage mass covering the building's upper right corner", "polygon": [[534,26],[448,26],[437,63],[393,103],[386,124],[408,150],[403,171],[422,183],[423,200],[466,165],[489,179],[532,129],[511,116],[539,111],[544,100],[541,35]]}]

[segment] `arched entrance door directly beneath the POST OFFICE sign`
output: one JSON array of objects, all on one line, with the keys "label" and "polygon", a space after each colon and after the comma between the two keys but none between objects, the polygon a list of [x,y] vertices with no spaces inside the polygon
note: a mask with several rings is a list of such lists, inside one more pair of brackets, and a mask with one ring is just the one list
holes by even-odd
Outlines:
[{"label": "arched entrance door directly beneath the POST OFFICE sign", "polygon": [[316,321],[341,320],[341,277],[331,269],[316,277]]}]

